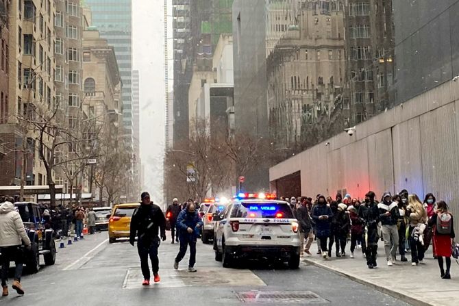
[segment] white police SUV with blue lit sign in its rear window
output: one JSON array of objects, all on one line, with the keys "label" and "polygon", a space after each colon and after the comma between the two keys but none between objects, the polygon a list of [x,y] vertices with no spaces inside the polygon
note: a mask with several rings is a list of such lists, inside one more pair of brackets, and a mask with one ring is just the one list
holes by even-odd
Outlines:
[{"label": "white police SUV with blue lit sign in its rear window", "polygon": [[215,260],[229,268],[237,259],[281,259],[299,267],[298,222],[290,205],[271,194],[239,194],[217,221]]}]

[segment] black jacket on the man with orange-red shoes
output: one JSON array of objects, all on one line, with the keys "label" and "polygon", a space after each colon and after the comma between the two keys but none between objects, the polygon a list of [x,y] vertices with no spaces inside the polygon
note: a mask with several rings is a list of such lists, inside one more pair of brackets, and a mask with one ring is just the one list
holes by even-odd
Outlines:
[{"label": "black jacket on the man with orange-red shoes", "polygon": [[132,214],[129,241],[134,243],[137,234],[139,240],[149,244],[153,240],[158,240],[158,233],[166,237],[166,218],[161,208],[153,203],[141,204]]}]

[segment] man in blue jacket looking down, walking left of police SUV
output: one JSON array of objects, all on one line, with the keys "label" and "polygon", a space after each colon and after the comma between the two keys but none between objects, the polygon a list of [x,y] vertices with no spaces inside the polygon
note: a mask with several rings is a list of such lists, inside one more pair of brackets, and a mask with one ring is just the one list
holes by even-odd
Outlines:
[{"label": "man in blue jacket looking down, walking left of police SUV", "polygon": [[196,272],[196,240],[199,235],[199,229],[203,222],[197,213],[196,205],[191,202],[186,205],[186,209],[180,212],[177,218],[177,231],[179,231],[180,251],[175,257],[174,268],[179,268],[179,262],[184,258],[188,244],[190,245],[190,263],[188,264],[189,272]]}]

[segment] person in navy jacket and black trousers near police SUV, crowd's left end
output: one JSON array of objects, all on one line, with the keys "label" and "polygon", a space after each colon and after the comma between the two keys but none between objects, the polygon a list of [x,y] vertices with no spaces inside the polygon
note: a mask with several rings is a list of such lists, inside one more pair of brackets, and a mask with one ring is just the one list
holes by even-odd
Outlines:
[{"label": "person in navy jacket and black trousers near police SUV, crowd's left end", "polygon": [[330,222],[333,218],[332,209],[327,206],[325,196],[319,196],[317,205],[312,209],[312,220],[316,224],[317,240],[321,244],[323,259],[327,259],[327,239],[330,237]]}]

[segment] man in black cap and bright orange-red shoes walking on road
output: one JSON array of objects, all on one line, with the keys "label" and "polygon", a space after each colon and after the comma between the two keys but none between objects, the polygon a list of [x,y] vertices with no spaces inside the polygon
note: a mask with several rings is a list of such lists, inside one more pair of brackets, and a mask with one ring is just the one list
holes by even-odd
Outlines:
[{"label": "man in black cap and bright orange-red shoes walking on road", "polygon": [[166,218],[158,205],[154,205],[150,201],[148,192],[142,192],[142,202],[131,219],[131,233],[129,242],[134,246],[136,233],[138,235],[137,250],[140,257],[140,266],[144,281],[142,285],[150,284],[150,270],[148,266],[148,256],[151,259],[151,269],[155,283],[160,281],[158,247],[160,246],[160,238],[158,237],[158,227],[160,229],[162,241],[166,240]]}]

